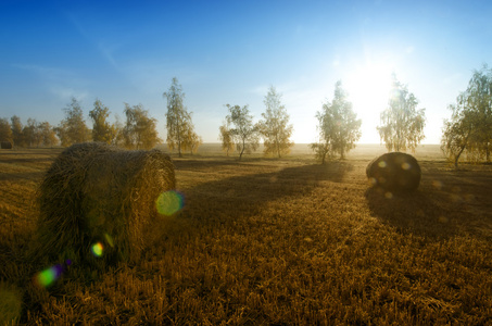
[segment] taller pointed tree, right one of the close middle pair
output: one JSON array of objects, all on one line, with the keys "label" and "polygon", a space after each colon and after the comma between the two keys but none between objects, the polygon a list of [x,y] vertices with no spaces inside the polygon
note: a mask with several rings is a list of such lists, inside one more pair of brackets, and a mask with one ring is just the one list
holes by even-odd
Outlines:
[{"label": "taller pointed tree, right one of the close middle pair", "polygon": [[266,112],[262,113],[263,120],[258,122],[258,130],[264,139],[265,154],[276,154],[280,158],[290,152],[294,145],[290,140],[293,126],[289,125],[289,114],[281,104],[281,95],[270,86],[263,101]]}]

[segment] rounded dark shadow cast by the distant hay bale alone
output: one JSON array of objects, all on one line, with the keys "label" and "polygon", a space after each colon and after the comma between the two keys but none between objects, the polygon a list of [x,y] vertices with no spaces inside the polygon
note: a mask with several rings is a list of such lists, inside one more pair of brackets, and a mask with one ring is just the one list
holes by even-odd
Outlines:
[{"label": "rounded dark shadow cast by the distant hay bale alone", "polygon": [[450,210],[438,205],[438,199],[428,189],[391,193],[373,187],[365,197],[374,215],[403,234],[447,238],[457,233]]}]

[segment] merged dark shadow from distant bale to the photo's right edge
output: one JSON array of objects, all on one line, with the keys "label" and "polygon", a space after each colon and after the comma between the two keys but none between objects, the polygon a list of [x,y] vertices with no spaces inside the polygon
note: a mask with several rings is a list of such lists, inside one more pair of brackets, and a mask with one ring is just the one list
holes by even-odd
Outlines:
[{"label": "merged dark shadow from distant bale to the photo's right edge", "polygon": [[389,199],[380,189],[368,189],[365,196],[370,211],[402,231],[492,239],[492,170],[467,165],[467,170],[456,171],[437,161],[421,166],[422,178],[415,192]]}]

